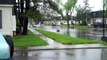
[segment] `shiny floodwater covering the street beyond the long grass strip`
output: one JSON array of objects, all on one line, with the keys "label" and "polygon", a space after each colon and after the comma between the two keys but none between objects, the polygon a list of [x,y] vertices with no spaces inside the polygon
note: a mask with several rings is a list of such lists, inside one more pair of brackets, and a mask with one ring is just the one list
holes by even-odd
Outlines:
[{"label": "shiny floodwater covering the street beyond the long grass strip", "polygon": [[[79,29],[68,30],[66,28],[60,28],[59,26],[44,26],[41,29],[57,32],[64,35],[70,35],[72,37],[94,39],[97,41],[101,41],[101,37],[103,36],[103,31],[100,28],[91,28],[85,30],[79,30]],[[58,32],[57,30],[60,31]],[[107,31],[105,32],[105,36],[107,36]]]}]

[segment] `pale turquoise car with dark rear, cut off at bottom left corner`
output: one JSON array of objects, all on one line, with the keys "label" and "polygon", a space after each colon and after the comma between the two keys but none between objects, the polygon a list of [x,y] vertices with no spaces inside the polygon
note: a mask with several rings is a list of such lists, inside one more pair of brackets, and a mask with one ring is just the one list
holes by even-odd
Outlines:
[{"label": "pale turquoise car with dark rear, cut off at bottom left corner", "polygon": [[14,45],[9,35],[3,36],[0,33],[0,60],[10,59],[13,56]]}]

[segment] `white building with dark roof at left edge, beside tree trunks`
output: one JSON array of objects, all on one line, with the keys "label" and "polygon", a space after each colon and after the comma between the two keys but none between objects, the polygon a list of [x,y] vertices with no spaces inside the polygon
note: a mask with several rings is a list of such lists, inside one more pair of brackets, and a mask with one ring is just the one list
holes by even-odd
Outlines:
[{"label": "white building with dark roof at left edge, beside tree trunks", "polygon": [[0,0],[0,33],[13,36],[16,31],[16,19],[12,15],[13,2]]}]

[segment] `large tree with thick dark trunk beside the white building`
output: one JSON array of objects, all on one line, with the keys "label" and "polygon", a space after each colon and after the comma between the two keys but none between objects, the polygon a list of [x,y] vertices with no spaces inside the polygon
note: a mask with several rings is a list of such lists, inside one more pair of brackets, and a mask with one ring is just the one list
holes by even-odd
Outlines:
[{"label": "large tree with thick dark trunk beside the white building", "polygon": [[[34,19],[36,21],[42,20],[46,16],[57,15],[57,5],[51,0],[32,0],[34,3],[33,7],[30,7],[30,0],[17,0],[15,4],[15,14],[17,17],[18,26],[20,27],[20,32],[23,35],[27,34],[28,18]],[[39,3],[43,3],[45,7],[41,9]],[[49,6],[48,6],[49,5]],[[48,11],[46,11],[48,9]],[[46,12],[46,13],[45,13]]]}]

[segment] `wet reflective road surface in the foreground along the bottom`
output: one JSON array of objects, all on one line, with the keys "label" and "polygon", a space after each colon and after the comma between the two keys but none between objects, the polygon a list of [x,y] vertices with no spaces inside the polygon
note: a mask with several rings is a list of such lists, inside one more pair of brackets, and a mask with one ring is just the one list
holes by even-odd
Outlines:
[{"label": "wet reflective road surface in the foreground along the bottom", "polygon": [[17,51],[13,60],[107,60],[107,49]]}]

